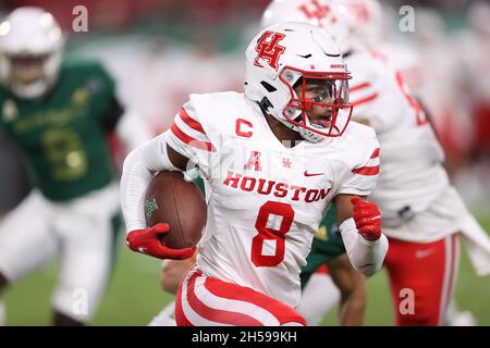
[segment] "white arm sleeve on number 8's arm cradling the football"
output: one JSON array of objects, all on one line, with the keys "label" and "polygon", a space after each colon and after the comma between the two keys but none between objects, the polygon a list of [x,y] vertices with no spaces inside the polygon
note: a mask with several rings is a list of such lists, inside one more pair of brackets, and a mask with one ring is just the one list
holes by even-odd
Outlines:
[{"label": "white arm sleeve on number 8's arm cradling the football", "polygon": [[143,207],[154,173],[175,170],[168,159],[166,149],[166,142],[159,136],[134,149],[124,160],[121,208],[127,232],[147,227]]}]

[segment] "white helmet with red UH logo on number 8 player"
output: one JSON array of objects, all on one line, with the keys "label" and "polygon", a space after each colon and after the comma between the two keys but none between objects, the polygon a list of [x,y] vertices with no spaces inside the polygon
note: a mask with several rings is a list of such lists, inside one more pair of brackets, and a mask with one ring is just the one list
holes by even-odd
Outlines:
[{"label": "white helmet with red UH logo on number 8 player", "polygon": [[[338,137],[352,114],[351,78],[338,47],[320,28],[285,22],[261,30],[245,53],[245,96],[308,141]],[[311,96],[306,86],[320,92]],[[314,110],[326,110],[315,122]]]}]

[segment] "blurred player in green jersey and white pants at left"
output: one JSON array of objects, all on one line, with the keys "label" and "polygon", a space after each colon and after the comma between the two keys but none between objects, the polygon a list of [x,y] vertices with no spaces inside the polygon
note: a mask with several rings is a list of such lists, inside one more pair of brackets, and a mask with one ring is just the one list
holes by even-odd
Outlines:
[{"label": "blurred player in green jersey and white pants at left", "polygon": [[35,187],[0,221],[0,290],[59,256],[53,324],[83,325],[103,294],[121,224],[108,138],[131,148],[149,134],[124,113],[99,63],[63,59],[64,42],[38,8],[0,24],[0,129]]}]

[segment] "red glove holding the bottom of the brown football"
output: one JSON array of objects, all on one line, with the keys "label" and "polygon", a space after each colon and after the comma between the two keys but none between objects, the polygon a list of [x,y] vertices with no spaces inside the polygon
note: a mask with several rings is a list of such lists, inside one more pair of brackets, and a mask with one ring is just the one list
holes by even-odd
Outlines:
[{"label": "red glove holding the bottom of the brown football", "polygon": [[127,234],[126,244],[131,250],[158,259],[185,260],[196,251],[196,247],[172,249],[161,243],[160,236],[169,233],[168,224],[156,224],[146,229],[135,229]]}]

